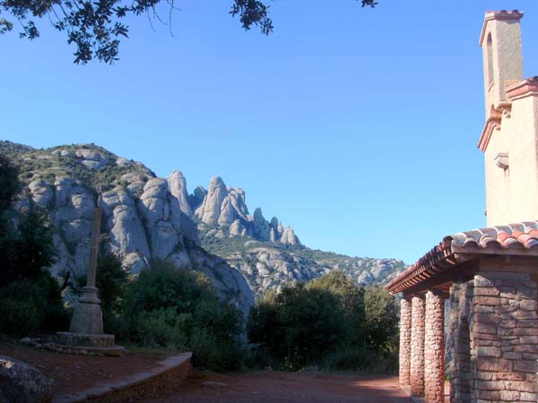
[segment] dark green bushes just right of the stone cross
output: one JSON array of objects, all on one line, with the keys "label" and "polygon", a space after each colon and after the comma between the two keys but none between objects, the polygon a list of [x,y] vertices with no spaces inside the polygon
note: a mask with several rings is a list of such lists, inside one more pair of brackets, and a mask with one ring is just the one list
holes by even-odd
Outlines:
[{"label": "dark green bushes just right of the stone cross", "polygon": [[153,262],[129,284],[119,336],[151,347],[191,349],[193,364],[237,370],[244,356],[242,315],[221,302],[209,279],[170,262]]}]

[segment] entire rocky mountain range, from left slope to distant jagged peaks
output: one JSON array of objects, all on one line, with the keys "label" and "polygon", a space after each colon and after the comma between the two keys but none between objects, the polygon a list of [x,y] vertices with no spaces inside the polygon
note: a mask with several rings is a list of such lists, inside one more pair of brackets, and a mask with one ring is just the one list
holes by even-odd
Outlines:
[{"label": "entire rocky mountain range, from left slope to distant jagged peaks", "polygon": [[[53,217],[60,259],[56,275],[84,275],[90,253],[91,212],[99,202],[108,249],[126,268],[142,270],[151,259],[169,259],[201,270],[222,297],[247,312],[253,294],[340,269],[357,283],[384,284],[402,272],[394,259],[352,258],[302,245],[291,227],[262,210],[251,215],[246,193],[215,176],[207,189],[187,191],[179,171],[166,179],[143,164],[95,145],[35,150],[0,141],[0,152],[18,163],[27,185],[20,205],[33,200]],[[98,198],[98,191],[100,197]]]}]

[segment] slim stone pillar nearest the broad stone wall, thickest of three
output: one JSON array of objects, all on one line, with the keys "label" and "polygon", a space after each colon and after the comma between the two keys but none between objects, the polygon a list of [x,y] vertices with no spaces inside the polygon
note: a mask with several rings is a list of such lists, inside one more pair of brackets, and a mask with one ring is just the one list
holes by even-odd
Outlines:
[{"label": "slim stone pillar nearest the broad stone wall, thickest of three", "polygon": [[424,397],[426,403],[445,401],[445,299],[426,294],[424,338]]}]

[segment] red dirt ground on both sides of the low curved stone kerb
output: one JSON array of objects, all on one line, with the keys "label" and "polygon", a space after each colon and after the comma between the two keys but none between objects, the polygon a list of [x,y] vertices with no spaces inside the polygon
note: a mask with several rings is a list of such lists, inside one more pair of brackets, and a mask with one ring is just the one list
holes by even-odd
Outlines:
[{"label": "red dirt ground on both sides of the low curved stone kerb", "polygon": [[[125,357],[76,356],[0,342],[0,355],[37,367],[55,381],[56,395],[142,373],[163,359],[160,351],[132,351]],[[203,382],[226,387],[207,388]],[[139,400],[140,401],[140,400]],[[206,373],[193,371],[185,387],[142,400],[155,403],[412,403],[395,376],[331,373]]]}]

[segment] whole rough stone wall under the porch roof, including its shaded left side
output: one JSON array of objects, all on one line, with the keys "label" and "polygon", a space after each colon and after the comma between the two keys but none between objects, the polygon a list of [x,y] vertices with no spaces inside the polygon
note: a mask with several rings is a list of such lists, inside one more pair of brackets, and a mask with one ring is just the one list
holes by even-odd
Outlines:
[{"label": "whole rough stone wall under the porch roof, including its shaded left side", "polygon": [[536,403],[538,293],[530,275],[480,271],[450,294],[451,401]]}]

